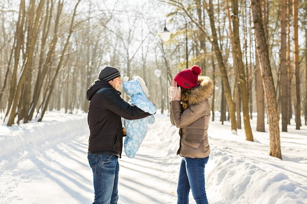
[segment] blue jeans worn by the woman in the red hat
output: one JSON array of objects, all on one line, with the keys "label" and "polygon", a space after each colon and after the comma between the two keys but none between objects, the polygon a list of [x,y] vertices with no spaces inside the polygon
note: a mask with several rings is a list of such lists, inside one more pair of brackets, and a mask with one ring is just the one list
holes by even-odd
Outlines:
[{"label": "blue jeans worn by the woman in the red hat", "polygon": [[209,157],[182,159],[177,187],[177,204],[189,203],[190,189],[196,204],[208,204],[205,192],[205,164],[208,159]]}]

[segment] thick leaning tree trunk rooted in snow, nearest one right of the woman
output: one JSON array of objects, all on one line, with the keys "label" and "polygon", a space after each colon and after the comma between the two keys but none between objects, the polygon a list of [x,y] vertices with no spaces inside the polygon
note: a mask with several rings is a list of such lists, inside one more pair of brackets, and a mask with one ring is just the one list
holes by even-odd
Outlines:
[{"label": "thick leaning tree trunk rooted in snow, nearest one right of the woman", "polygon": [[261,76],[264,86],[269,133],[270,133],[270,155],[281,159],[281,141],[279,130],[279,114],[277,110],[276,93],[272,70],[270,66],[269,54],[264,36],[264,28],[261,18],[259,0],[250,0],[253,13],[256,47],[261,68]]}]

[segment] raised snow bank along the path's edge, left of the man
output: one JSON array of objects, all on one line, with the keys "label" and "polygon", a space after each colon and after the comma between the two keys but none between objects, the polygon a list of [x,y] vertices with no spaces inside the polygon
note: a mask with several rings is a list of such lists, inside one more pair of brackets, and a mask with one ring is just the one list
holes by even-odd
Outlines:
[{"label": "raised snow bank along the path's edge, left of the man", "polygon": [[38,149],[42,145],[46,148],[78,136],[80,128],[88,129],[86,119],[85,113],[50,112],[42,122],[30,121],[11,127],[0,126],[0,167],[11,163],[14,157],[18,158],[20,154],[31,149]]}]

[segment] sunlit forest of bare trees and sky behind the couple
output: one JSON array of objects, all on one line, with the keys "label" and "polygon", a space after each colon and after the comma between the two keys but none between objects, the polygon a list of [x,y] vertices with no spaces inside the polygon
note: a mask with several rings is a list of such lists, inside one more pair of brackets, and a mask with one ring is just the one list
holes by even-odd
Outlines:
[{"label": "sunlit forest of bare trees and sky behind the couple", "polygon": [[2,0],[3,125],[87,112],[85,92],[106,65],[141,76],[163,113],[173,76],[198,65],[215,84],[212,120],[219,111],[234,134],[243,122],[253,141],[257,113],[256,131],[269,125],[270,155],[282,159],[280,129],[292,117],[307,125],[306,16],[306,0]]}]

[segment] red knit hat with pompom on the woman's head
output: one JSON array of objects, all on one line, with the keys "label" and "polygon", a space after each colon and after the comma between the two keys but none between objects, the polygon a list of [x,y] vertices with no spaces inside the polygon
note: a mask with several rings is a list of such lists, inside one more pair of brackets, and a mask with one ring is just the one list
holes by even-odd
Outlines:
[{"label": "red knit hat with pompom on the woman's head", "polygon": [[200,75],[202,69],[196,65],[191,68],[184,69],[176,74],[173,81],[177,82],[177,85],[184,89],[192,89],[198,85],[198,75]]}]

